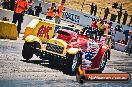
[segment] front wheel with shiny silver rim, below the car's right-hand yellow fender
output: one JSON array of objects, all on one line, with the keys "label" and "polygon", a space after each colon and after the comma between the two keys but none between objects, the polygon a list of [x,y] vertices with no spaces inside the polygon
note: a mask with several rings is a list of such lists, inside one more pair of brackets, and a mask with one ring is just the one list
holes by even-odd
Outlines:
[{"label": "front wheel with shiny silver rim, below the car's right-hand yellow fender", "polygon": [[82,58],[81,58],[81,53],[77,53],[74,55],[69,55],[68,60],[67,60],[67,65],[66,65],[66,70],[69,74],[75,74],[77,68],[81,64]]}]

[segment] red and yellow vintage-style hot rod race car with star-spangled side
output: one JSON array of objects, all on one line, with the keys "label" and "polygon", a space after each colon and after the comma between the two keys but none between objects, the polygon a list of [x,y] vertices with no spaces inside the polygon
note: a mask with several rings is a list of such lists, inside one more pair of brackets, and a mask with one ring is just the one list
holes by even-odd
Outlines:
[{"label": "red and yellow vintage-style hot rod race car with star-spangled side", "polygon": [[30,60],[33,54],[42,60],[49,60],[49,64],[59,63],[70,73],[101,73],[110,59],[110,47],[106,37],[98,41],[74,31],[60,29],[44,44],[36,36],[27,36],[22,56]]}]

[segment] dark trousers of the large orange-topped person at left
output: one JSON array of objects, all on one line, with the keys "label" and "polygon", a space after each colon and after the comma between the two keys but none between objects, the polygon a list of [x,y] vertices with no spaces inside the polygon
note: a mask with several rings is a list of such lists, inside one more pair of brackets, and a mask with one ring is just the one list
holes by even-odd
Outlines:
[{"label": "dark trousers of the large orange-topped person at left", "polygon": [[16,22],[18,21],[18,25],[17,25],[18,35],[19,35],[20,31],[21,31],[21,24],[23,22],[23,16],[24,16],[23,13],[15,13],[14,12],[14,14],[13,14],[12,23],[16,24]]}]

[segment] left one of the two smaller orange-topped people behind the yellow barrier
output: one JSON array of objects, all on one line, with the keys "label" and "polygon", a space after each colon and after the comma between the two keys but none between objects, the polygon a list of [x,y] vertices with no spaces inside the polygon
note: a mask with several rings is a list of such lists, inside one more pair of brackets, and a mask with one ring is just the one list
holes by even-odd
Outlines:
[{"label": "left one of the two smaller orange-topped people behind the yellow barrier", "polygon": [[46,19],[52,20],[54,17],[54,12],[56,11],[55,3],[52,3],[52,6],[47,9]]}]

